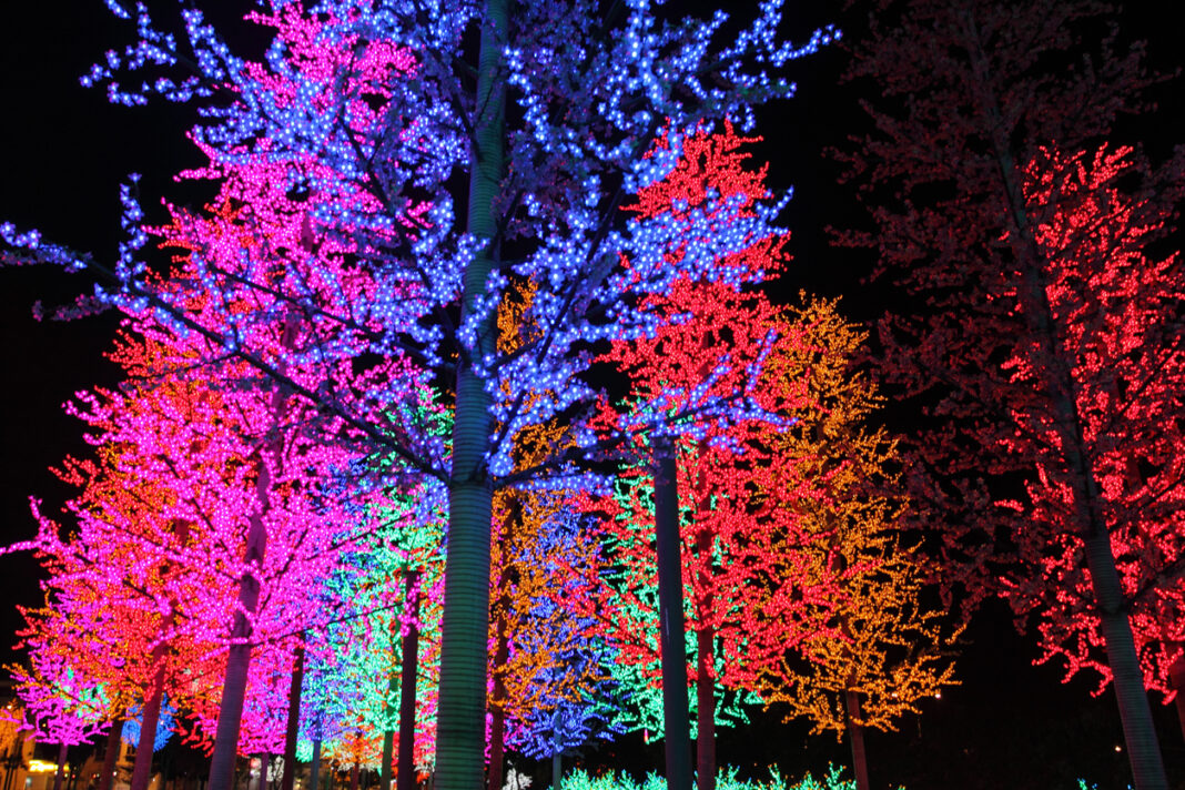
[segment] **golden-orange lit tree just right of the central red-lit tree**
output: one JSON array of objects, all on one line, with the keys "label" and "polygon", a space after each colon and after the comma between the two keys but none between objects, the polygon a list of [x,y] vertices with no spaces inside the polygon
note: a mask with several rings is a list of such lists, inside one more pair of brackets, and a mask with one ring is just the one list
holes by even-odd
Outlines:
[{"label": "golden-orange lit tree just right of the central red-lit tree", "polygon": [[807,717],[814,733],[847,733],[856,786],[867,790],[864,728],[896,730],[897,719],[920,713],[918,701],[954,682],[948,648],[957,631],[943,629],[944,612],[923,603],[925,565],[903,545],[896,443],[867,425],[883,398],[866,373],[852,370],[866,335],[834,301],[808,300],[783,320],[802,340],[770,355],[764,380],[806,381],[808,392],[793,424],[770,442],[812,483],[813,495],[792,507],[822,537],[813,567],[839,596],[820,612],[834,630],[809,634],[793,654],[760,667],[750,688],[767,705]]}]

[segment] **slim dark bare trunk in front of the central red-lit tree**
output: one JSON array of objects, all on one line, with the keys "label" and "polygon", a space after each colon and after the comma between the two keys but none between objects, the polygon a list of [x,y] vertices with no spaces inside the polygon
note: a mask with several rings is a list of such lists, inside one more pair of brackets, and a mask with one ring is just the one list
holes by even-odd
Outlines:
[{"label": "slim dark bare trunk in front of the central red-lit tree", "polygon": [[691,725],[687,720],[687,657],[684,647],[683,569],[675,449],[654,442],[654,531],[659,570],[659,644],[662,654],[662,721],[668,790],[691,790]]}]

